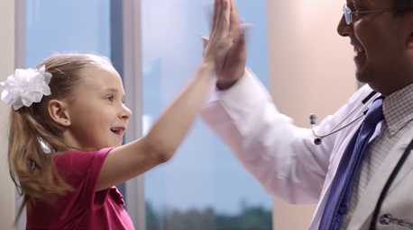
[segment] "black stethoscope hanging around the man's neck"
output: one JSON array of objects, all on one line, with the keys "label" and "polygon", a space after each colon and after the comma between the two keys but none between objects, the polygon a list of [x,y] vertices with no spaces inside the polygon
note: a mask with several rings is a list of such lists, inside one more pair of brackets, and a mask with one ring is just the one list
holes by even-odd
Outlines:
[{"label": "black stethoscope hanging around the man's neck", "polygon": [[[364,98],[364,100],[362,101],[362,103],[357,106],[357,108],[355,108],[352,112],[350,112],[350,114],[345,117],[340,123],[338,123],[335,128],[333,128],[329,133],[327,133],[326,135],[323,136],[318,136],[316,134],[316,132],[314,131],[314,126],[316,125],[316,119],[317,116],[316,114],[310,114],[310,123],[311,123],[311,130],[313,131],[314,136],[316,137],[314,139],[314,144],[316,144],[317,146],[319,146],[322,142],[322,138],[324,137],[328,137],[332,134],[335,134],[336,132],[342,130],[343,128],[346,128],[348,126],[350,126],[351,124],[353,124],[356,120],[361,119],[367,111],[364,111],[362,115],[360,115],[359,117],[353,119],[352,121],[350,121],[349,123],[347,123],[346,125],[342,126],[341,128],[338,128],[345,119],[347,119],[348,117],[350,117],[354,111],[356,111],[357,109],[359,109],[361,106],[365,105],[367,102],[369,102],[372,97],[377,94],[377,92],[373,91],[372,93],[370,93],[366,98]],[[403,155],[400,157],[399,159],[399,163],[396,165],[396,167],[393,169],[393,172],[391,172],[389,179],[386,181],[386,184],[384,185],[383,189],[381,190],[381,194],[379,197],[379,200],[377,201],[376,204],[376,208],[374,208],[373,214],[372,214],[372,222],[370,222],[370,228],[369,230],[375,230],[376,229],[376,224],[377,224],[377,219],[379,217],[380,214],[380,210],[381,210],[381,204],[383,203],[384,198],[386,197],[387,192],[390,189],[391,183],[394,181],[394,179],[396,178],[397,174],[399,173],[401,166],[403,166],[403,164],[406,162],[406,160],[408,159],[408,155],[410,154],[410,152],[413,149],[413,140],[410,141],[410,144],[408,144],[408,147],[406,148],[406,150],[404,151]]]}]

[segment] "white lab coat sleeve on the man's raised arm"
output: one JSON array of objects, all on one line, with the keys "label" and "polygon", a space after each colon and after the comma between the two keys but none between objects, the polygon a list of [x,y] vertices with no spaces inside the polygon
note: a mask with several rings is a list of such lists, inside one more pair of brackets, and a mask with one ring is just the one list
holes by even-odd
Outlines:
[{"label": "white lab coat sleeve on the man's raised arm", "polygon": [[[336,118],[324,119],[317,131],[330,131],[351,103],[337,111]],[[317,203],[336,140],[314,145],[311,129],[298,128],[280,114],[251,71],[230,89],[213,92],[200,114],[269,194],[291,204]]]}]

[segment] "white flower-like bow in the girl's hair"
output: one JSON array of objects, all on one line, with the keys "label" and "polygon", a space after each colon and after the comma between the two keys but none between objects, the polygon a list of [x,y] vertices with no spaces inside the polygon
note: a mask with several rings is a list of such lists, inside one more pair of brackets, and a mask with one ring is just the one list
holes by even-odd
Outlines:
[{"label": "white flower-like bow in the girl's hair", "polygon": [[33,102],[41,102],[43,95],[50,95],[50,73],[45,73],[46,66],[39,68],[16,69],[5,82],[0,83],[5,90],[2,101],[12,103],[15,111],[23,106],[30,107]]}]

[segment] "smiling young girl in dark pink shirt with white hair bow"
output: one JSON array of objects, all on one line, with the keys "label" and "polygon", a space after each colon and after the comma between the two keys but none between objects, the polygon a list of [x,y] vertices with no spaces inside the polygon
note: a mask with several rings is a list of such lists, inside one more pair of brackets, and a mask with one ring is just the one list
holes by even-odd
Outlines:
[{"label": "smiling young girl in dark pink shirt with white hair bow", "polygon": [[50,57],[2,83],[13,104],[12,178],[27,206],[27,229],[133,229],[115,184],[170,159],[231,47],[229,0],[216,0],[203,62],[146,137],[122,146],[132,113],[120,75],[105,57]]}]

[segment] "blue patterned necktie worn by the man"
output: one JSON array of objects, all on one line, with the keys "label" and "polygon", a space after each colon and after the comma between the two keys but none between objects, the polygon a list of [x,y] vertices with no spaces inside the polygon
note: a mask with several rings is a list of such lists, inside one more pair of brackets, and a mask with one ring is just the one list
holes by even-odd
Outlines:
[{"label": "blue patterned necktie worn by the man", "polygon": [[378,98],[367,111],[362,126],[354,134],[338,165],[335,178],[331,184],[326,207],[321,217],[319,230],[336,230],[347,211],[351,198],[353,182],[357,168],[377,123],[384,119],[383,98]]}]

